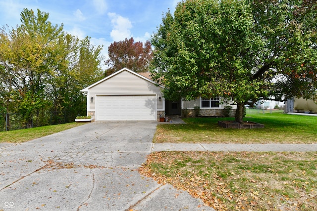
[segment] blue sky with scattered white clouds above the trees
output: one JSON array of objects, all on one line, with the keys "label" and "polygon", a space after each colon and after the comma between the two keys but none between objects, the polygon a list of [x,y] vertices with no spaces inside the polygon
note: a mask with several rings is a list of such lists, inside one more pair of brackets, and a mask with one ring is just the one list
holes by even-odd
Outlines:
[{"label": "blue sky with scattered white clouds above the trees", "polygon": [[133,37],[145,42],[157,31],[162,14],[173,12],[180,0],[0,0],[0,27],[16,27],[23,8],[50,13],[52,24],[64,24],[64,31],[95,45]]}]

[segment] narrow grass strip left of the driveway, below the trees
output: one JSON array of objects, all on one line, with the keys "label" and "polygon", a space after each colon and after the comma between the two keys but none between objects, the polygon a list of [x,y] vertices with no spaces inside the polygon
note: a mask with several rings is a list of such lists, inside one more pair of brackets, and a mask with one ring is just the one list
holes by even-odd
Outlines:
[{"label": "narrow grass strip left of the driveway, below the trees", "polygon": [[83,124],[85,123],[67,123],[53,126],[2,131],[0,132],[0,143],[22,143]]}]

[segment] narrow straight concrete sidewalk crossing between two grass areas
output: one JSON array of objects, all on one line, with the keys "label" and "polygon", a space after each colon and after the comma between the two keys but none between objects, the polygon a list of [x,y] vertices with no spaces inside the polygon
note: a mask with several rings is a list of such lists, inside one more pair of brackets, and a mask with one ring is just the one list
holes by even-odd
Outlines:
[{"label": "narrow straight concrete sidewalk crossing between two grass areas", "polygon": [[156,151],[317,152],[317,144],[153,144]]}]

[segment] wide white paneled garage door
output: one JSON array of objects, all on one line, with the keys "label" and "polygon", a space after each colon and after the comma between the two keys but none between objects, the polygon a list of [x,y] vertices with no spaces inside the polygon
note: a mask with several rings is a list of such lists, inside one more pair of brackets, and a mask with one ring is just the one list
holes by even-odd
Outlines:
[{"label": "wide white paneled garage door", "polygon": [[96,121],[157,120],[156,95],[96,97]]}]

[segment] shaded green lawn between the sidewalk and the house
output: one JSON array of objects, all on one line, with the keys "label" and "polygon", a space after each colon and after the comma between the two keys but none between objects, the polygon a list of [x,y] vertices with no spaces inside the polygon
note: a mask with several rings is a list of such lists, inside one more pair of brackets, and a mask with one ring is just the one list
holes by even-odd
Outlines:
[{"label": "shaded green lawn between the sidewalk and the house", "polygon": [[317,117],[248,110],[244,121],[264,124],[264,128],[232,129],[217,125],[218,121],[234,118],[185,118],[186,125],[159,125],[154,142],[317,143]]}]

